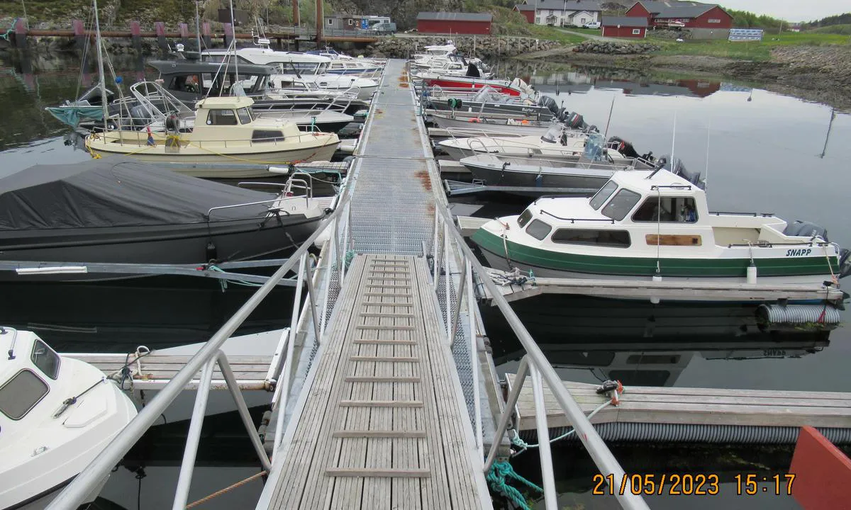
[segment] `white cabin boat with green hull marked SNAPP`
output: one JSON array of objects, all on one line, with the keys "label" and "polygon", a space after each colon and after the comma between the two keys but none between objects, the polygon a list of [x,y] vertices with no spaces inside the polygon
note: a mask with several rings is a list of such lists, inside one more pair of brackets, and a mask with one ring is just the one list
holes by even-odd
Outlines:
[{"label": "white cabin boat with green hull marked SNAPP", "polygon": [[497,269],[683,286],[822,285],[851,265],[824,229],[773,214],[709,212],[704,190],[663,169],[614,173],[591,198],[540,198],[519,216],[484,224],[472,241]]}]

